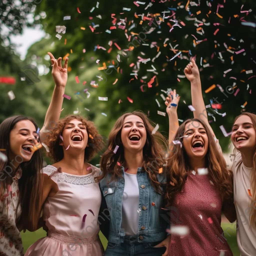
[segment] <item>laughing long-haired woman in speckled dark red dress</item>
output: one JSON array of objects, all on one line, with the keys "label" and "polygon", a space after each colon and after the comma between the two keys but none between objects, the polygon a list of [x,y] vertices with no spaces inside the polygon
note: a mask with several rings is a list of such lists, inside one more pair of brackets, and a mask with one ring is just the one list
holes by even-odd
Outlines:
[{"label": "laughing long-haired woman in speckled dark red dress", "polygon": [[[190,72],[187,66],[187,77]],[[201,102],[195,103],[193,96],[192,91],[197,110]],[[233,255],[220,226],[221,211],[235,220],[232,173],[220,161],[213,131],[201,119],[189,119],[180,125],[175,140],[180,144],[175,143],[168,161],[166,197],[178,216],[172,218],[168,256]]]}]

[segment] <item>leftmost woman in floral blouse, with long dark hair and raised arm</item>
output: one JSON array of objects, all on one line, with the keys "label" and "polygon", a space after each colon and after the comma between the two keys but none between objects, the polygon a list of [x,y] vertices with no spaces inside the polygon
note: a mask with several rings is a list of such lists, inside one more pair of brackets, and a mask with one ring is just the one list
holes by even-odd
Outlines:
[{"label": "leftmost woman in floral blouse, with long dark hair and raised arm", "polygon": [[[57,61],[50,52],[48,54],[54,63],[52,76],[56,84],[45,118],[45,125],[51,127],[51,122],[54,123],[60,116],[53,110],[61,108],[67,69],[57,69],[61,58]],[[68,60],[65,61],[65,68],[67,64]],[[20,231],[32,230],[37,226],[36,212],[42,197],[40,171],[43,160],[38,150],[40,147],[38,126],[33,119],[22,115],[12,116],[0,124],[0,152],[6,155],[0,158],[1,255],[23,256]]]}]

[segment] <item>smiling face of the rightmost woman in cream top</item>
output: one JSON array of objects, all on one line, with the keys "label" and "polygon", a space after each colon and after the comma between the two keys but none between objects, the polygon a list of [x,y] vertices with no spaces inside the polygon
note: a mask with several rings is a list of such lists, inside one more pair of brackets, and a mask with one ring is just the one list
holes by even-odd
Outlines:
[{"label": "smiling face of the rightmost woman in cream top", "polygon": [[231,140],[236,149],[254,150],[256,145],[256,132],[252,120],[248,115],[240,116],[233,125]]}]

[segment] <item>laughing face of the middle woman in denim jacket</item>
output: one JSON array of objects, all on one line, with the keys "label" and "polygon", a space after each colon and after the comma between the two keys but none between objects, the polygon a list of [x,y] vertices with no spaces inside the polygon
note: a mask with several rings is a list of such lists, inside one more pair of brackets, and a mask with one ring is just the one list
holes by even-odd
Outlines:
[{"label": "laughing face of the middle woman in denim jacket", "polygon": [[139,152],[146,143],[147,133],[143,120],[137,115],[129,115],[124,119],[121,140],[124,150]]}]

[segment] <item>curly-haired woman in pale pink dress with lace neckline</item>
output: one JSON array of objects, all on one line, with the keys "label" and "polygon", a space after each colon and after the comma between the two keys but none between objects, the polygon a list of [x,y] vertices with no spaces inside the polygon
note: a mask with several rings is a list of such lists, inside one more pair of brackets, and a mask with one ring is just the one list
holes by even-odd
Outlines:
[{"label": "curly-haired woman in pale pink dress with lace neckline", "polygon": [[48,236],[32,244],[26,256],[102,256],[98,214],[101,191],[94,177],[100,169],[89,164],[103,143],[91,121],[68,115],[46,140],[53,165],[43,168],[44,187],[38,214]]}]

